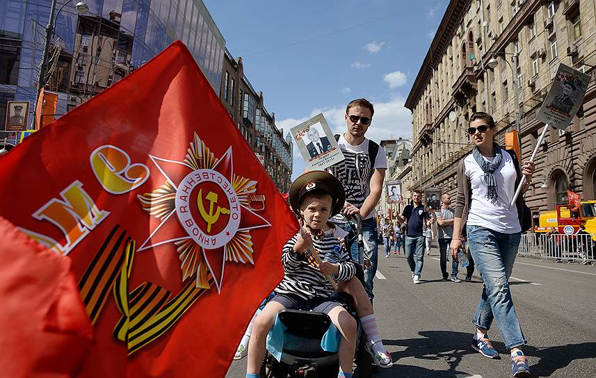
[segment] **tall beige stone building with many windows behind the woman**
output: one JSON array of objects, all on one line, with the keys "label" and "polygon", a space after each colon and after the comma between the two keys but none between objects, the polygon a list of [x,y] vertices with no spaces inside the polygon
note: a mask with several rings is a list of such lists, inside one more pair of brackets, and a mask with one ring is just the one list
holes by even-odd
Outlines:
[{"label": "tall beige stone building with many windows behind the woman", "polygon": [[456,167],[473,147],[466,130],[475,111],[494,117],[497,142],[505,145],[519,108],[522,158],[529,158],[544,126],[535,113],[563,63],[592,80],[569,129],[548,130],[525,198],[534,213],[565,203],[567,190],[595,199],[595,16],[596,0],[452,0],[405,102],[412,110],[408,189],[437,186],[455,195]]}]

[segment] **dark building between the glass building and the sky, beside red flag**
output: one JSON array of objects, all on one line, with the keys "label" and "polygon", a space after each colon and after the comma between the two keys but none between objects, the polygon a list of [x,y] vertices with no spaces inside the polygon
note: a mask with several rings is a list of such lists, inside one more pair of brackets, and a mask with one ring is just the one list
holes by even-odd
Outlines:
[{"label": "dark building between the glass building and the sky, beside red flag", "polygon": [[244,74],[242,58],[234,58],[225,49],[220,85],[220,100],[239,131],[263,163],[280,190],[287,192],[292,174],[290,133],[275,126],[275,113],[269,113],[263,92],[256,92]]}]

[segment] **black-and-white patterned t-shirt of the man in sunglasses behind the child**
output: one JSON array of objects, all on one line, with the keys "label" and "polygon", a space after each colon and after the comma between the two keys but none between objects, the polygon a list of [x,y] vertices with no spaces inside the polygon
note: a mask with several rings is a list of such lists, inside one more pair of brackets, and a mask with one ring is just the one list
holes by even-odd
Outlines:
[{"label": "black-and-white patterned t-shirt of the man in sunglasses behind the child", "polygon": [[[375,163],[371,167],[369,140],[367,138],[364,138],[364,141],[360,145],[353,146],[346,141],[344,135],[340,135],[337,144],[346,159],[330,167],[329,171],[344,184],[346,201],[360,208],[364,204],[364,199],[371,192],[371,177],[373,176],[374,169],[387,169],[385,149],[379,146]],[[366,219],[372,217],[373,214],[374,210],[367,215]]]}]

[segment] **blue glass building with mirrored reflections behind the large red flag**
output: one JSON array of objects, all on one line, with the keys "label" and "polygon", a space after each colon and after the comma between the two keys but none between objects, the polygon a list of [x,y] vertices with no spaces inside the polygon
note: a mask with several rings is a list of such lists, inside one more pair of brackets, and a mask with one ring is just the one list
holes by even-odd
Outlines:
[{"label": "blue glass building with mirrored reflections behind the large red flag", "polygon": [[[56,10],[65,0],[58,0]],[[182,40],[216,93],[225,40],[201,0],[72,1],[59,13],[48,56],[46,90],[58,94],[56,116],[119,81],[171,42]],[[6,101],[35,90],[51,0],[0,0],[0,117]],[[6,138],[6,135],[0,136]]]}]

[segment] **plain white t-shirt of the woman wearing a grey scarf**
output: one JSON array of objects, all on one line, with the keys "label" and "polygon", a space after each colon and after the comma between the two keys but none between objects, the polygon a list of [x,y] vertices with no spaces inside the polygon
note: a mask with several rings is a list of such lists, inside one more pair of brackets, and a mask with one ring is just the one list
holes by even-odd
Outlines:
[{"label": "plain white t-shirt of the woman wearing a grey scarf", "polygon": [[[497,182],[497,194],[499,198],[494,204],[486,197],[487,186],[483,181],[484,172],[476,163],[474,154],[466,156],[465,175],[469,177],[472,198],[467,224],[470,226],[481,226],[502,233],[516,233],[522,231],[520,219],[517,217],[517,206],[509,208],[511,199],[515,194],[515,165],[507,151],[501,150],[503,158],[501,165],[494,172],[494,180]],[[493,161],[494,157],[486,161]]]}]

